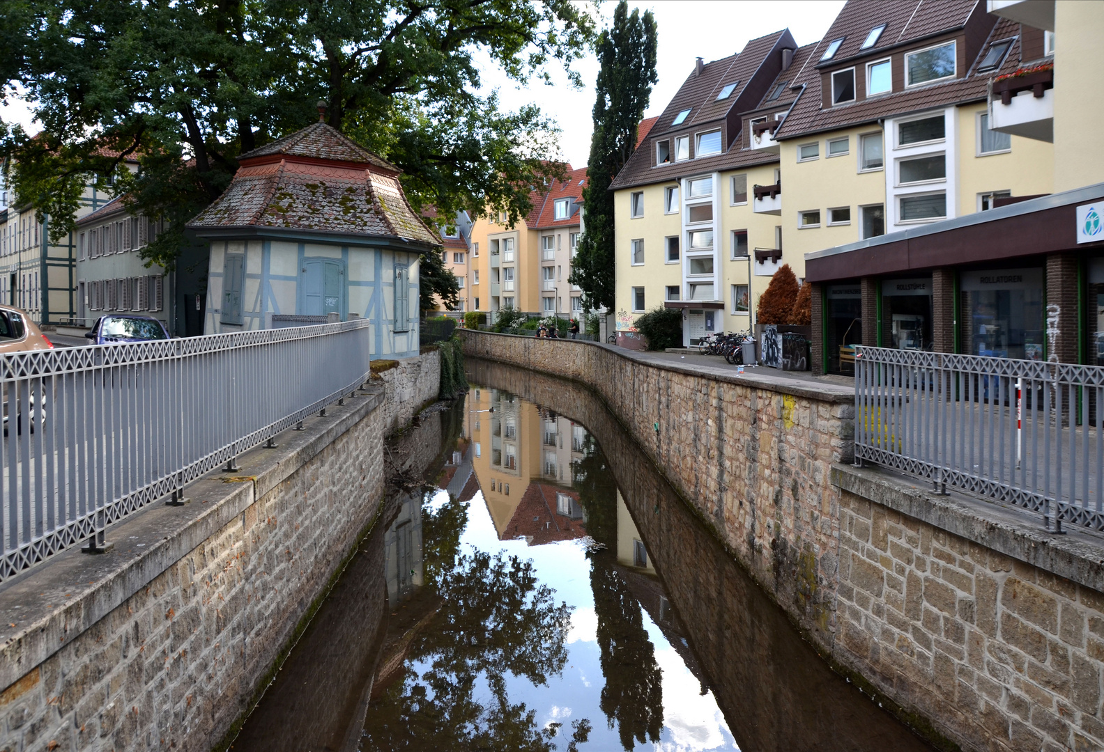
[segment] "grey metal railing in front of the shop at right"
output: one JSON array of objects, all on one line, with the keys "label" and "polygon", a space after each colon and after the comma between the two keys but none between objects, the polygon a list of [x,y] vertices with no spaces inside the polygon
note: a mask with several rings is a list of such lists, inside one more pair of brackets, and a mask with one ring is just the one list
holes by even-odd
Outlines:
[{"label": "grey metal railing in front of the shop at right", "polygon": [[1104,367],[856,350],[857,462],[1104,530]]}]

